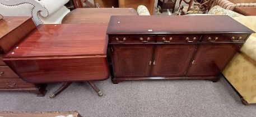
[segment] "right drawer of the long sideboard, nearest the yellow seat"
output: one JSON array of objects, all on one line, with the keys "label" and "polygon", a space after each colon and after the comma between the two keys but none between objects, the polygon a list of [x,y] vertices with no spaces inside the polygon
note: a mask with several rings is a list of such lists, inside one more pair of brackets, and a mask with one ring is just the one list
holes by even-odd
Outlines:
[{"label": "right drawer of the long sideboard, nearest the yellow seat", "polygon": [[248,35],[204,35],[202,42],[242,42]]}]

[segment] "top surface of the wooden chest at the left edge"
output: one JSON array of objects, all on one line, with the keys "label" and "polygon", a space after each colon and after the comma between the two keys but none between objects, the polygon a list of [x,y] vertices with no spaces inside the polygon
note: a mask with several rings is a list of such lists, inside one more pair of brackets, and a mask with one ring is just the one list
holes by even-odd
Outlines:
[{"label": "top surface of the wooden chest at the left edge", "polygon": [[0,20],[0,38],[15,30],[15,28],[22,25],[22,23],[30,18],[30,16],[4,16],[3,19]]}]

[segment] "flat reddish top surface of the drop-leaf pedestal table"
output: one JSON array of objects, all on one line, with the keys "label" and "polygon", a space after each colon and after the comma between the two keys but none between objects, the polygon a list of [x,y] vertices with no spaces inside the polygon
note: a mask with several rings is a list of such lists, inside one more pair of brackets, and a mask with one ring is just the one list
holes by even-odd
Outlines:
[{"label": "flat reddish top surface of the drop-leaf pedestal table", "polygon": [[40,25],[4,58],[106,55],[108,23]]}]

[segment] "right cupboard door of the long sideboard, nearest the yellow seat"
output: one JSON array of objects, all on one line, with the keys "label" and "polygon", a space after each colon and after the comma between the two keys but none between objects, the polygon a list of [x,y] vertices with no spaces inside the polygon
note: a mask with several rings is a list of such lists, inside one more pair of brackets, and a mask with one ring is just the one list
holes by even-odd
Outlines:
[{"label": "right cupboard door of the long sideboard, nearest the yellow seat", "polygon": [[242,43],[201,44],[194,55],[187,76],[217,76]]}]

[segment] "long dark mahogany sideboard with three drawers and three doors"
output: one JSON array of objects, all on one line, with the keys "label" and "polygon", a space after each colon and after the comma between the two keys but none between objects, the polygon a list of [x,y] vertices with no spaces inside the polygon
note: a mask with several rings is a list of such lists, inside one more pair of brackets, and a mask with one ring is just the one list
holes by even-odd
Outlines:
[{"label": "long dark mahogany sideboard with three drawers and three doors", "polygon": [[112,16],[107,31],[112,81],[216,82],[253,32],[229,16]]}]

